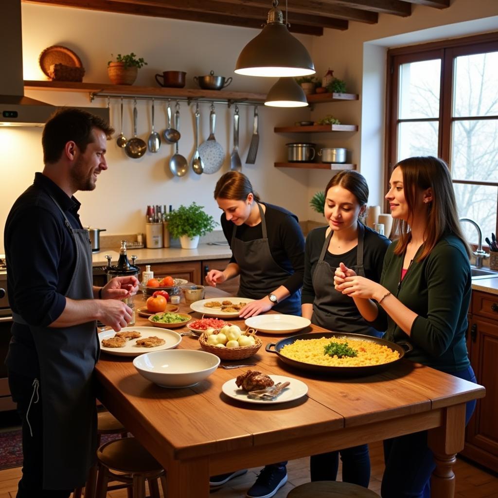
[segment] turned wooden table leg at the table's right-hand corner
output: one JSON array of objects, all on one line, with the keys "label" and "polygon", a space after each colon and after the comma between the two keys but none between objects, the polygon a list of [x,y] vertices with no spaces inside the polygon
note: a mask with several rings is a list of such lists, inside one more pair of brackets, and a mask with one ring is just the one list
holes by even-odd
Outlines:
[{"label": "turned wooden table leg at the table's right-hand corner", "polygon": [[456,454],[464,447],[465,404],[443,410],[440,427],[429,430],[428,444],[434,453],[436,468],[432,473],[431,497],[454,498]]}]

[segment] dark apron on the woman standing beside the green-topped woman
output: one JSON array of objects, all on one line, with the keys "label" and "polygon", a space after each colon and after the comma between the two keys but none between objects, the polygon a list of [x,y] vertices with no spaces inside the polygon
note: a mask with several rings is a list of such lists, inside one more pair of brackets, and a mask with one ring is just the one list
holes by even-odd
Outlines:
[{"label": "dark apron on the woman standing beside the green-topped woman", "polygon": [[[356,264],[351,266],[357,275],[365,276],[363,266],[363,243],[365,228],[358,223],[358,246],[356,249]],[[322,252],[316,263],[311,281],[315,291],[313,315],[311,323],[334,332],[349,332],[380,337],[382,333],[370,327],[362,318],[353,299],[334,289],[334,274],[336,269],[324,260],[334,232],[331,230],[322,247]]]}]

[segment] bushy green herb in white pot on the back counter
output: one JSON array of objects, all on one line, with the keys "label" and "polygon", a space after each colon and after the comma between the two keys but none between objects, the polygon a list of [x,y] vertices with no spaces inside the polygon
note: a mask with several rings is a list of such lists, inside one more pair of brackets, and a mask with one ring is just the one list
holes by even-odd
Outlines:
[{"label": "bushy green herb in white pot on the back counter", "polygon": [[213,231],[216,225],[214,218],[195,202],[187,207],[181,205],[169,213],[169,233],[180,239],[183,249],[196,249],[199,237]]}]

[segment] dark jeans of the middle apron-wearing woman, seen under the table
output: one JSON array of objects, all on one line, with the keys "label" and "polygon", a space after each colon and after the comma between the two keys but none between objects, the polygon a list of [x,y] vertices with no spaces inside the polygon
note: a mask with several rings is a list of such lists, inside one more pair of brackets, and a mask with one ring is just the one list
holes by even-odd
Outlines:
[{"label": "dark jeans of the middle apron-wearing woman, seen under the table", "polygon": [[335,481],[339,470],[339,454],[343,463],[343,482],[368,488],[370,482],[368,444],[312,455],[310,458],[311,481]]}]

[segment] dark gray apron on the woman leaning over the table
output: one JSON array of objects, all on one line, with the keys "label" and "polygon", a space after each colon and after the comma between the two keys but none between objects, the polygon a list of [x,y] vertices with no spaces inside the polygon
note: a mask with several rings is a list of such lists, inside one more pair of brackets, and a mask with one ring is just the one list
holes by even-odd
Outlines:
[{"label": "dark gray apron on the woman leaning over the table", "polygon": [[[240,297],[261,299],[282,285],[291,275],[279,266],[271,255],[268,244],[266,221],[261,206],[258,204],[261,216],[262,239],[241,241],[235,237],[237,225],[232,232],[232,253],[240,267],[240,286],[237,293]],[[301,291],[291,294],[287,299],[273,306],[275,311],[288,315],[301,315]]]}]

